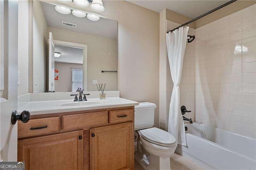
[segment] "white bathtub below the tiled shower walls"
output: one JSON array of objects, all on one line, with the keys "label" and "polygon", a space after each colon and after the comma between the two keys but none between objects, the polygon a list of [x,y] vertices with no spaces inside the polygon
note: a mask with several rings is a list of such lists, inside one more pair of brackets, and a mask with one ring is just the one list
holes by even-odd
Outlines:
[{"label": "white bathtub below the tiled shower walls", "polygon": [[188,146],[178,145],[176,152],[206,169],[256,169],[256,139],[204,125],[188,127]]}]

